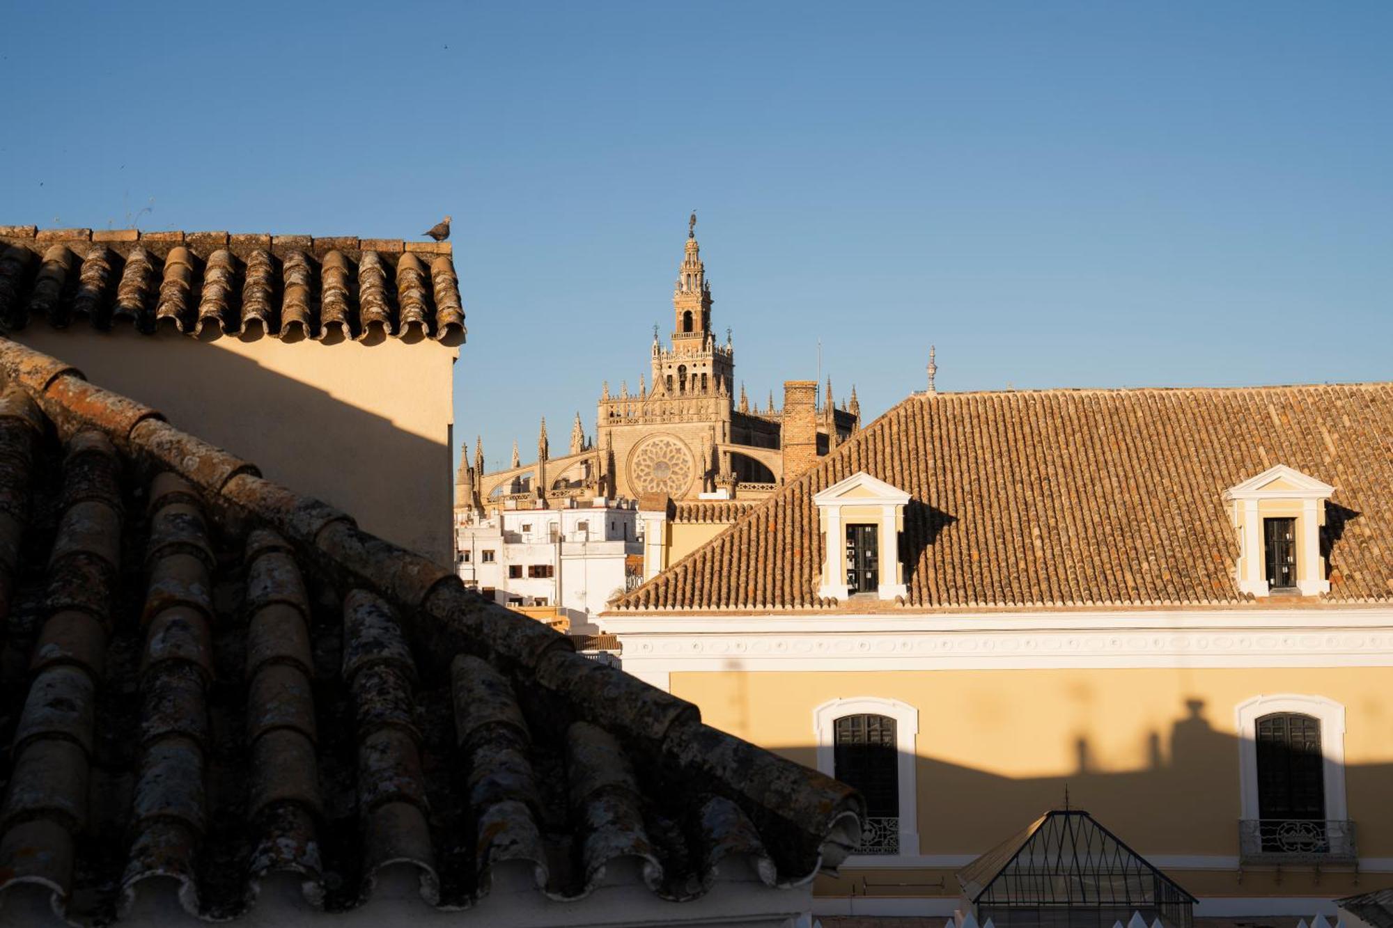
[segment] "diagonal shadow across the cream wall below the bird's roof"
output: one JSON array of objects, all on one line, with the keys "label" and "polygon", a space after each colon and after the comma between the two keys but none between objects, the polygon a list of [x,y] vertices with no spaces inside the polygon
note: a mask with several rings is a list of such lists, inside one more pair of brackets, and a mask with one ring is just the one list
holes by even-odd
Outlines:
[{"label": "diagonal shadow across the cream wall below the bird's roof", "polygon": [[[449,443],[182,334],[35,325],[11,337],[157,408],[170,424],[255,463],[266,478],[350,513],[365,531],[450,563]],[[351,346],[290,347],[354,359]]]}]

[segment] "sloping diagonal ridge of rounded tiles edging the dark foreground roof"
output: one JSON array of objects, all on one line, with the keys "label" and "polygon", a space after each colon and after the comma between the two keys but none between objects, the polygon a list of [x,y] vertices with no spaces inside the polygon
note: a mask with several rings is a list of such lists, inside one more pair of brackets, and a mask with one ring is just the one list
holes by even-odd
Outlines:
[{"label": "sloping diagonal ridge of rounded tiles edging the dark foreground roof", "polygon": [[[809,867],[780,867],[769,878],[776,885],[834,869],[857,844],[864,803],[854,790],[703,725],[695,705],[577,654],[567,635],[486,602],[450,569],[359,529],[348,514],[262,478],[249,461],[174,428],[159,411],[4,337],[0,380],[21,387],[61,439],[104,436],[120,454],[181,478],[219,523],[251,534],[273,529],[276,543],[288,543],[336,587],[380,596],[444,673],[458,655],[486,658],[574,706],[581,720],[637,743],[670,773],[737,804],[761,828],[790,835],[800,868]],[[22,408],[0,414],[29,421]]]}]

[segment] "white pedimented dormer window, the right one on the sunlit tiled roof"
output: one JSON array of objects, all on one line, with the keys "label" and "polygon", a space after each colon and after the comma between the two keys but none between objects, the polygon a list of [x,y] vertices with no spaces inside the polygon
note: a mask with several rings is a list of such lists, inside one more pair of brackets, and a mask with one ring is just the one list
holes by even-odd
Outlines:
[{"label": "white pedimented dormer window, the right one on the sunlit tiled roof", "polygon": [[1325,503],[1334,488],[1277,464],[1224,490],[1238,531],[1238,589],[1254,596],[1330,591],[1321,556]]}]

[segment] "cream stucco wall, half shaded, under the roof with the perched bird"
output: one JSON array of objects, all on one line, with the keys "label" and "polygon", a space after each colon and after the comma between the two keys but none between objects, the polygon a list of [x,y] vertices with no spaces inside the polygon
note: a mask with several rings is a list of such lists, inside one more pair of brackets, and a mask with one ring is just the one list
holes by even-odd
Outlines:
[{"label": "cream stucco wall, half shaded, under the roof with the perched bird", "polygon": [[450,562],[456,348],[45,325],[11,337],[351,513],[364,529]]}]

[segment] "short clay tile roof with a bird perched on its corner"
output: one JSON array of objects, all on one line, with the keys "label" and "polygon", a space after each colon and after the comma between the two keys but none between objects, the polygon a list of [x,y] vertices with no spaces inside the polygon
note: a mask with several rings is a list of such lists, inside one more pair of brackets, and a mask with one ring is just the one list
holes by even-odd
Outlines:
[{"label": "short clay tile roof with a bird perched on its corner", "polygon": [[0,226],[0,332],[464,341],[449,242]]}]

